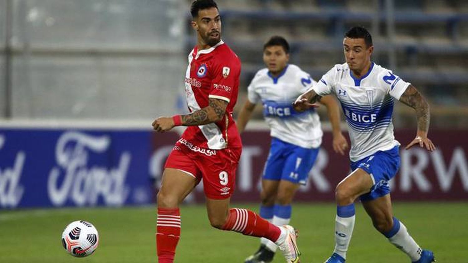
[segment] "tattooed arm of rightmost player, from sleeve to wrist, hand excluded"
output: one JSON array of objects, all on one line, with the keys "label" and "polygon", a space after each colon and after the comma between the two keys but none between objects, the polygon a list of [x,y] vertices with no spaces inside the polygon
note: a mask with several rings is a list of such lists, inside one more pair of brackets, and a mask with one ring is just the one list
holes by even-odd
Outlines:
[{"label": "tattooed arm of rightmost player, from sleeve to wrist, hand excluded", "polygon": [[417,129],[427,132],[429,130],[429,104],[424,100],[421,93],[413,85],[409,85],[400,101],[416,110],[417,115]]}]

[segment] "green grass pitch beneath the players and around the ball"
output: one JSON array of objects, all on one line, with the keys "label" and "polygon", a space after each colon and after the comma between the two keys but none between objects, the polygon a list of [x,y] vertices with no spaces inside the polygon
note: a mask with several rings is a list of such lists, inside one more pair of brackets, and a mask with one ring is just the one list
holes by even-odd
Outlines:
[{"label": "green grass pitch beneath the players and around the ball", "polygon": [[[257,210],[256,205],[235,205]],[[336,207],[331,203],[293,206],[291,224],[300,231],[301,262],[322,263],[334,247]],[[407,263],[409,259],[372,227],[362,206],[347,263]],[[396,203],[395,215],[438,263],[468,263],[467,203]],[[256,238],[209,226],[205,206],[182,206],[177,263],[241,263],[254,252]],[[156,262],[154,207],[20,210],[0,212],[0,262]],[[87,258],[69,256],[60,235],[73,220],[88,220],[100,244]],[[274,262],[284,262],[281,255]]]}]

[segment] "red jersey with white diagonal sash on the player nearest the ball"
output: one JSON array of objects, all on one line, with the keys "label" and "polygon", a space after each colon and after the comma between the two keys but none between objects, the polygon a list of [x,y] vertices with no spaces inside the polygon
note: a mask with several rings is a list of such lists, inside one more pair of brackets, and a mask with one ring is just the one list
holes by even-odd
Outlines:
[{"label": "red jersey with white diagonal sash on the player nearest the ball", "polygon": [[185,95],[190,112],[208,106],[208,99],[228,102],[221,121],[200,126],[189,126],[182,135],[187,146],[205,149],[242,147],[241,138],[232,117],[237,102],[241,61],[220,41],[215,46],[189,54],[189,66],[185,73]]}]

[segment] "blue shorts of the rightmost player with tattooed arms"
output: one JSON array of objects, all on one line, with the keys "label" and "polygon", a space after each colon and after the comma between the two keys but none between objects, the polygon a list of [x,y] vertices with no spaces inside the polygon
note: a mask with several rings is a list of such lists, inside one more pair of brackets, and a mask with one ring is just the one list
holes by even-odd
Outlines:
[{"label": "blue shorts of the rightmost player with tattooed arms", "polygon": [[371,192],[361,195],[361,201],[370,201],[390,193],[388,181],[395,177],[400,167],[400,150],[398,146],[386,151],[377,151],[371,156],[351,162],[351,170],[358,168],[371,175],[374,185]]}]

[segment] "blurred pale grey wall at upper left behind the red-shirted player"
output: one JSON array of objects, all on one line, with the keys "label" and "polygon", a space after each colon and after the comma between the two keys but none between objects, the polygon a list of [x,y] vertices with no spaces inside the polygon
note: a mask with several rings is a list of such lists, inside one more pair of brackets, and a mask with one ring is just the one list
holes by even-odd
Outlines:
[{"label": "blurred pale grey wall at upper left behind the red-shirted player", "polygon": [[182,4],[0,0],[1,115],[135,119],[174,112],[185,68]]}]

